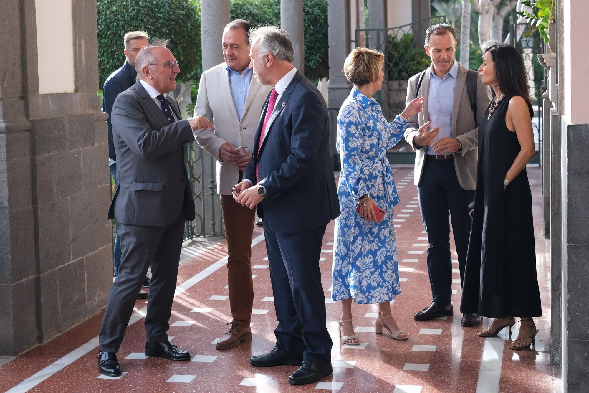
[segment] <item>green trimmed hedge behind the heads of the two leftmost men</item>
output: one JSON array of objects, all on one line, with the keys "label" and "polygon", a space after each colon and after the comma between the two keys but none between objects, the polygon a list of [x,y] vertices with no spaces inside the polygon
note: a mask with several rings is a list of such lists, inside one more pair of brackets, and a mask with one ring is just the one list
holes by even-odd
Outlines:
[{"label": "green trimmed hedge behind the heads of the two leftmost men", "polygon": [[123,35],[144,30],[153,38],[169,38],[180,62],[178,82],[197,79],[202,70],[200,8],[196,0],[97,0],[98,84],[125,60]]}]

